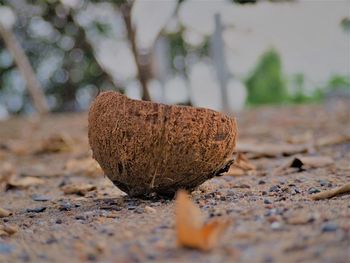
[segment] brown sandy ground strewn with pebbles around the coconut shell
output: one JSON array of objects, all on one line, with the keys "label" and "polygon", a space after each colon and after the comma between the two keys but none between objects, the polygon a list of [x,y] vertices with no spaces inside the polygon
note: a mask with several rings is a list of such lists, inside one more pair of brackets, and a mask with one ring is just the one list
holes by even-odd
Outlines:
[{"label": "brown sandy ground strewn with pebbles around the coconut shell", "polygon": [[[177,247],[173,200],[129,198],[101,174],[86,114],[1,122],[0,208],[12,214],[0,226],[13,231],[0,231],[0,262],[350,262],[350,195],[310,198],[350,182],[348,105],[237,116],[256,169],[192,193],[207,218],[233,221],[210,252]],[[284,167],[295,155],[331,163]]]}]

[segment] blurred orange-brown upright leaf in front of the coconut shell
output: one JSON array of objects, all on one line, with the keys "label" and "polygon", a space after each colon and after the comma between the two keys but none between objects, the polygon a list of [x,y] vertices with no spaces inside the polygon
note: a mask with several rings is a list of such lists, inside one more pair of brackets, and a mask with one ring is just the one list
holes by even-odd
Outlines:
[{"label": "blurred orange-brown upright leaf in front of the coconut shell", "polygon": [[204,251],[218,245],[229,225],[229,220],[224,219],[204,223],[201,211],[183,190],[176,194],[175,215],[178,245]]}]

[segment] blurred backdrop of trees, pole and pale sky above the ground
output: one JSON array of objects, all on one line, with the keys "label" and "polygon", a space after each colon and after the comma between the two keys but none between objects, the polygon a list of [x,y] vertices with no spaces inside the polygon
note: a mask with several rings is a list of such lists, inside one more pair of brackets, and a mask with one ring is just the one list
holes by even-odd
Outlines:
[{"label": "blurred backdrop of trees, pole and pale sky above the ground", "polygon": [[0,119],[110,89],[225,112],[350,97],[350,1],[0,0]]}]

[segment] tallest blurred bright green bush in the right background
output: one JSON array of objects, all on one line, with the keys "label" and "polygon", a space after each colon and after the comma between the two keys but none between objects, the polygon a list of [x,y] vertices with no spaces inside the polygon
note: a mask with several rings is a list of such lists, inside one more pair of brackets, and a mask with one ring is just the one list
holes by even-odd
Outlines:
[{"label": "tallest blurred bright green bush in the right background", "polygon": [[246,80],[248,104],[276,104],[287,100],[281,59],[276,50],[266,51]]}]

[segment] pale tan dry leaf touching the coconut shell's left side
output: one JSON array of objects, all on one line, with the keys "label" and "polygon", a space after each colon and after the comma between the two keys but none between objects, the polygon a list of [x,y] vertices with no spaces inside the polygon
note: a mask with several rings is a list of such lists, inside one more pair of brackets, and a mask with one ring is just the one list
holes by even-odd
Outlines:
[{"label": "pale tan dry leaf touching the coconut shell's left side", "polygon": [[65,170],[71,174],[97,176],[103,174],[100,165],[92,158],[68,160]]}]

